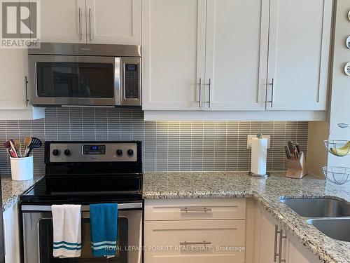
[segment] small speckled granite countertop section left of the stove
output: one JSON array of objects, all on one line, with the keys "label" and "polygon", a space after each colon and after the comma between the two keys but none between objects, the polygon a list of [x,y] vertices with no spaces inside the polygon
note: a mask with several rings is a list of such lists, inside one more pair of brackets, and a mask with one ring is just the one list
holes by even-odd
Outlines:
[{"label": "small speckled granite countertop section left of the stove", "polygon": [[34,175],[33,180],[13,181],[10,176],[1,176],[2,210],[10,208],[27,189],[42,177],[43,175]]}]

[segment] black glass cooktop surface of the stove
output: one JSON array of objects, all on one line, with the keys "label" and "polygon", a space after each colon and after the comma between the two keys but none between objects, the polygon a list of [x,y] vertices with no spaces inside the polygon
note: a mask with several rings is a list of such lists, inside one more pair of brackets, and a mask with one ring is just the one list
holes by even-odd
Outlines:
[{"label": "black glass cooktop surface of the stove", "polygon": [[142,175],[43,177],[22,195],[22,203],[98,203],[141,200]]}]

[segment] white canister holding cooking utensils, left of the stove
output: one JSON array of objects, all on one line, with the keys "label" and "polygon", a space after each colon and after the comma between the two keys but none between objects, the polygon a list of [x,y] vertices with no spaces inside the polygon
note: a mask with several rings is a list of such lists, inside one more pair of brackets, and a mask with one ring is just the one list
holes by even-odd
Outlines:
[{"label": "white canister holding cooking utensils, left of the stove", "polygon": [[10,157],[11,177],[15,181],[25,181],[33,179],[33,156],[23,158]]}]

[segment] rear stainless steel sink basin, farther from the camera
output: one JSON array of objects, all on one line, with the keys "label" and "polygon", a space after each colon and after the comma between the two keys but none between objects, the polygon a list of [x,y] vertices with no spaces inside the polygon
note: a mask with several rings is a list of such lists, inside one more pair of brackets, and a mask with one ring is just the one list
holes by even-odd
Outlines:
[{"label": "rear stainless steel sink basin, farther from the camera", "polygon": [[302,217],[350,217],[350,205],[332,198],[283,198]]}]

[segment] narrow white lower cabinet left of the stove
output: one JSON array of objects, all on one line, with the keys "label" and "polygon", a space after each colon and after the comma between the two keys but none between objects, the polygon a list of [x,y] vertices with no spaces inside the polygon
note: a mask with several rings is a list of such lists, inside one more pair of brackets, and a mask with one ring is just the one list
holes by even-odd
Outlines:
[{"label": "narrow white lower cabinet left of the stove", "polygon": [[19,263],[20,234],[17,203],[3,213],[3,246],[5,249],[5,262]]}]

